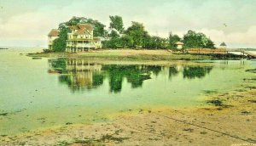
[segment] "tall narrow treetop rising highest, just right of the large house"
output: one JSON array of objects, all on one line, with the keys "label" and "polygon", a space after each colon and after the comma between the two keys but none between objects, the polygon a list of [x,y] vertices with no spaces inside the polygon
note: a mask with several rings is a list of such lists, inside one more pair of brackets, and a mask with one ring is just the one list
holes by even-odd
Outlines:
[{"label": "tall narrow treetop rising highest, just right of the large house", "polygon": [[110,19],[109,28],[115,29],[119,31],[119,33],[122,33],[125,30],[122,17],[115,15],[115,16],[109,16],[109,19]]}]

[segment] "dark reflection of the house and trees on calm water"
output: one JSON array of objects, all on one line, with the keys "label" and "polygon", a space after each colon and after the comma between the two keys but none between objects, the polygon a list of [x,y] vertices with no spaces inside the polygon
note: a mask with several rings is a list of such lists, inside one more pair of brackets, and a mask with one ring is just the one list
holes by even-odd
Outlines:
[{"label": "dark reflection of the house and trees on calm water", "polygon": [[184,79],[195,79],[207,76],[212,66],[104,65],[84,59],[49,59],[49,73],[60,74],[59,81],[67,84],[73,92],[101,87],[108,81],[109,91],[119,93],[124,81],[132,88],[143,87],[143,81],[160,76],[164,70],[168,70],[169,79],[179,74]]}]

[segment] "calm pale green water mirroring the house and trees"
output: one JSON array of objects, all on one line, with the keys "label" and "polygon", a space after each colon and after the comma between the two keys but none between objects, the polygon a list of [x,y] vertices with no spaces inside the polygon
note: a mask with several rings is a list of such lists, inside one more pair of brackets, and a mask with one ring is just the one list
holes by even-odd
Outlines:
[{"label": "calm pale green water mirroring the house and trees", "polygon": [[[254,61],[32,59],[0,50],[0,135],[113,121],[125,111],[191,107],[240,87]],[[23,53],[23,54],[20,54]]]}]

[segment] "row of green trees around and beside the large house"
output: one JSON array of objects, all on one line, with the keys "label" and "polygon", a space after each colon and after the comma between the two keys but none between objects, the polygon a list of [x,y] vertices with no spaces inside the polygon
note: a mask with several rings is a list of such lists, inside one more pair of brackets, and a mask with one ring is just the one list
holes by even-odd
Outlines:
[{"label": "row of green trees around and beside the large house", "polygon": [[172,49],[176,50],[176,43],[183,42],[183,49],[186,48],[215,48],[214,42],[201,32],[188,31],[183,37],[169,33],[168,38],[151,36],[144,25],[132,21],[127,29],[124,27],[122,17],[115,15],[109,16],[110,24],[108,30],[98,20],[87,19],[84,17],[73,17],[67,22],[59,25],[60,35],[53,43],[54,51],[65,51],[67,33],[71,30],[69,26],[88,23],[94,27],[94,36],[106,38],[102,42],[103,48],[146,48],[146,49]]}]

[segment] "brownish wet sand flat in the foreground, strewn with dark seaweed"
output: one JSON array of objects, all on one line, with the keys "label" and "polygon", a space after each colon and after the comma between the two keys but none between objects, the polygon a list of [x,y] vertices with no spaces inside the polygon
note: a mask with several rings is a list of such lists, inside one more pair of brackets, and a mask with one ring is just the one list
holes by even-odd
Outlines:
[{"label": "brownish wet sand flat in the foreground, strewn with dark seaweed", "polygon": [[0,136],[2,145],[248,145],[256,143],[255,79],[208,95],[194,108],[128,110],[111,122],[53,127]]}]

